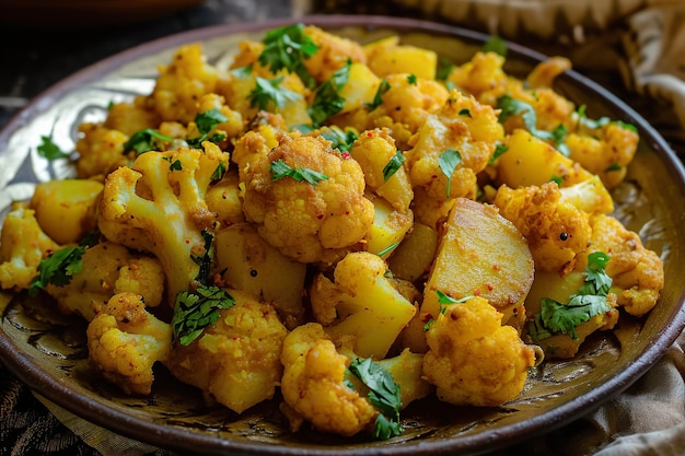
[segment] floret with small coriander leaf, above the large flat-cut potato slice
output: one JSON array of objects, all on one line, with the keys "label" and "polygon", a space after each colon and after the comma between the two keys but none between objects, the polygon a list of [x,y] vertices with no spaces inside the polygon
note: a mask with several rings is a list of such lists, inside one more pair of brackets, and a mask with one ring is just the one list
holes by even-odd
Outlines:
[{"label": "floret with small coriander leaf, above the large flat-cut potato slice", "polygon": [[[453,91],[443,108],[427,117],[414,149],[406,153],[411,184],[423,187],[438,203],[458,197],[474,199],[476,174],[487,166],[502,139],[502,127],[490,106]],[[461,156],[450,178],[440,163],[449,150]]]}]

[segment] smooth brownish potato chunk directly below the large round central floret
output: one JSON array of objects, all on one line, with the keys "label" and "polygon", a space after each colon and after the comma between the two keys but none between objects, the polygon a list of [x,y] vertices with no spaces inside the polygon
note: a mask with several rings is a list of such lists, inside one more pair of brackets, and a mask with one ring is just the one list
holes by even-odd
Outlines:
[{"label": "smooth brownish potato chunk directly below the large round central floret", "polygon": [[305,265],[283,256],[249,223],[236,223],[214,237],[217,269],[231,287],[274,307],[288,328],[302,324]]}]

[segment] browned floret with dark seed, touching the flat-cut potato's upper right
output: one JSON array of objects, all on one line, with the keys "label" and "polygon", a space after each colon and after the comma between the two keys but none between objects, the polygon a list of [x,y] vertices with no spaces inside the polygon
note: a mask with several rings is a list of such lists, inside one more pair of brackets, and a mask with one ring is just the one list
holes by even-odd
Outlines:
[{"label": "browned floret with dark seed, touching the flat-cut potato's upper right", "polygon": [[494,203],[529,242],[536,270],[572,270],[590,242],[588,214],[564,201],[554,182],[518,189],[502,185]]}]

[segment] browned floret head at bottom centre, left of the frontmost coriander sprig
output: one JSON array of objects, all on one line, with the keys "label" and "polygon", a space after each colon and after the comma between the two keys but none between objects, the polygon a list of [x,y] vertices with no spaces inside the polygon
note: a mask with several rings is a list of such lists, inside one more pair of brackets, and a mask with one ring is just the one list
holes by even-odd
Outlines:
[{"label": "browned floret head at bottom centre, left of the frontmost coriander sprig", "polygon": [[[346,385],[350,360],[336,351],[322,326],[309,323],[283,341],[283,400],[295,416],[324,432],[351,436],[373,423],[374,407]],[[291,414],[287,413],[287,414]],[[299,420],[291,420],[297,431]]]}]

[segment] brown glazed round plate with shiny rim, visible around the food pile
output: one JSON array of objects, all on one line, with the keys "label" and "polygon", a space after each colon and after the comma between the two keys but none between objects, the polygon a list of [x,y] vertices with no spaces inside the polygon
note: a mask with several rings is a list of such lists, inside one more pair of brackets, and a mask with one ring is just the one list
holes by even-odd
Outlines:
[{"label": "brown glazed round plate with shiny rim, visible around the food pile", "polygon": [[[409,19],[311,16],[301,21],[360,42],[399,34],[404,43],[436,49],[457,63],[471,59],[487,39],[467,30]],[[69,166],[37,156],[42,135],[51,131],[61,149],[71,149],[78,124],[102,120],[112,101],[149,93],[156,65],[170,61],[181,44],[200,42],[211,63],[228,66],[241,40],[259,40],[266,30],[286,23],[227,25],[170,36],[116,55],[46,91],[0,132],[0,209],[7,210],[13,199],[28,199],[35,182],[71,175]],[[544,58],[509,43],[506,70],[522,75]],[[606,115],[639,129],[638,153],[616,192],[617,215],[661,254],[665,288],[643,319],[623,315],[618,329],[590,338],[576,359],[546,361],[533,370],[523,393],[509,404],[477,409],[425,400],[403,412],[405,433],[385,442],[307,430],[292,434],[278,411],[278,397],[237,416],[222,407],[207,407],[197,389],[163,369],[150,397],[121,395],[91,371],[84,325],[23,295],[3,295],[0,301],[2,360],[33,389],[86,420],[153,445],[206,455],[475,454],[558,428],[626,389],[685,327],[681,280],[685,172],[655,130],[607,91],[573,71],[558,78],[556,89],[578,105],[587,105],[590,117]]]}]

